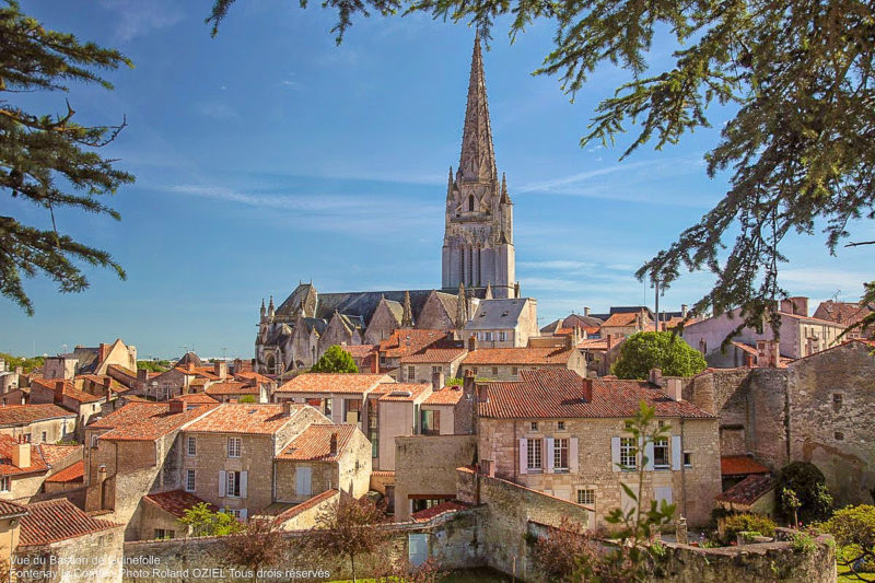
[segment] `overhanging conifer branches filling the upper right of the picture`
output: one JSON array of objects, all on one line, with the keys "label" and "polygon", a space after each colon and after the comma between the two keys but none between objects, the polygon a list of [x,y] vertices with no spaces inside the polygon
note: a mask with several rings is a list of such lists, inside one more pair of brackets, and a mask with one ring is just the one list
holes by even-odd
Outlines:
[{"label": "overhanging conifer branches filling the upper right of the picture", "polygon": [[[234,2],[214,0],[207,18],[213,35]],[[820,223],[835,253],[851,220],[875,218],[871,2],[325,0],[322,5],[337,11],[338,43],[354,15],[371,12],[425,12],[469,22],[487,38],[493,22],[506,16],[512,42],[535,20],[549,20],[555,47],[535,72],[558,75],[572,98],[600,65],[628,72],[581,139],[581,145],[612,144],[638,125],[623,158],[648,142],[662,149],[710,127],[709,106],[731,107],[733,117],[705,154],[709,177],[730,172],[728,191],[638,271],[664,289],[681,270],[712,271],[715,283],[691,315],[742,306],[737,329],[767,317],[777,331],[770,307],[786,295],[778,279],[786,234],[813,234]],[[658,31],[674,37],[674,62],[652,69],[648,56]],[[724,254],[727,237],[734,243]]]}]

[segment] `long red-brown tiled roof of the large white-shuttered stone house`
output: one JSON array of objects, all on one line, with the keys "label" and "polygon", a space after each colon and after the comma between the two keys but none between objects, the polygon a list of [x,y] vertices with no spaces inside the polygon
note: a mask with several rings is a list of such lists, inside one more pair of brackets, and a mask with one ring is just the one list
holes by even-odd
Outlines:
[{"label": "long red-brown tiled roof of the large white-shuttered stone house", "polygon": [[481,417],[495,419],[629,418],[644,400],[656,417],[713,418],[688,401],[676,401],[645,381],[593,378],[593,397],[583,400],[584,380],[567,369],[520,371],[520,381],[490,382]]}]

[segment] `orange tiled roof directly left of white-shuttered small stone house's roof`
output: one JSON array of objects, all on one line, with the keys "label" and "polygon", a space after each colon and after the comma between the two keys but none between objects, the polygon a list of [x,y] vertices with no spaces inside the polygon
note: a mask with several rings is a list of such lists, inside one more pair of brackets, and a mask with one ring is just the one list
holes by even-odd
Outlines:
[{"label": "orange tiled roof directly left of white-shuttered small stone house's roof", "polygon": [[171,412],[168,403],[129,403],[119,410],[90,424],[89,429],[110,429],[102,440],[154,441],[218,406],[205,405],[179,413]]}]

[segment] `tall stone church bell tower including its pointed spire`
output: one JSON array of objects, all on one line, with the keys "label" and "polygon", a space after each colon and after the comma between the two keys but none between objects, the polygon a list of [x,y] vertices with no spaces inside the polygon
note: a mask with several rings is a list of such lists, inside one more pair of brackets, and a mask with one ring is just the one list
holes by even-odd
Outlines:
[{"label": "tall stone church bell tower including its pointed spire", "polygon": [[490,285],[494,298],[513,298],[513,203],[495,166],[479,35],[474,40],[462,155],[455,175],[450,168],[445,214],[442,288]]}]

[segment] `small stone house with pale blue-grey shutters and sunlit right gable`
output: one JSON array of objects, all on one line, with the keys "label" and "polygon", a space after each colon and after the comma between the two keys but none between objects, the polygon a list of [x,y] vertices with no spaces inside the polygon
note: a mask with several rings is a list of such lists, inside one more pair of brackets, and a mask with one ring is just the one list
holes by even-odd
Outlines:
[{"label": "small stone house with pale blue-grey shutters and sunlit right gable", "polygon": [[313,423],[275,458],[280,503],[300,504],[328,490],[361,498],[371,480],[371,443],[358,425]]}]

